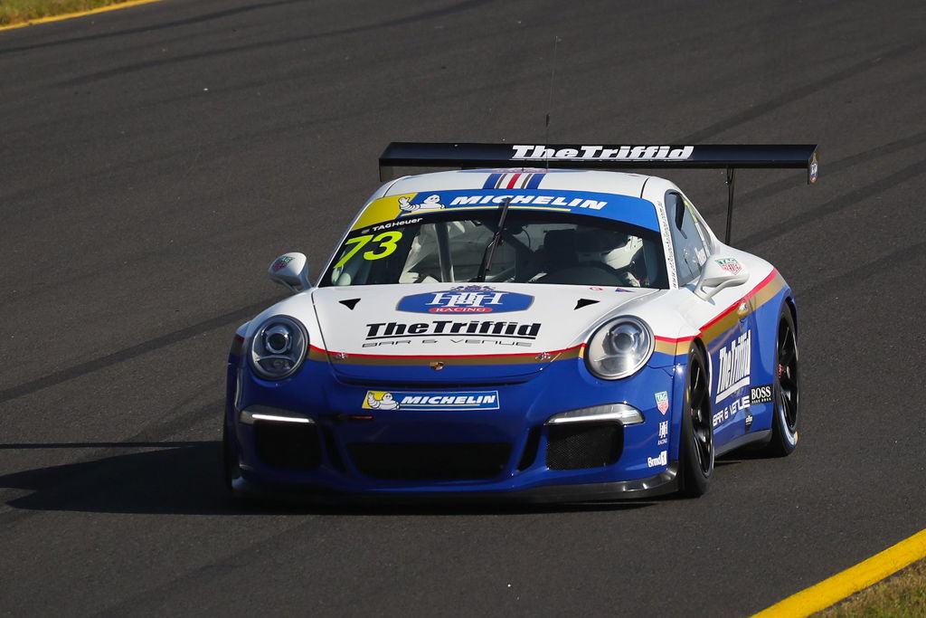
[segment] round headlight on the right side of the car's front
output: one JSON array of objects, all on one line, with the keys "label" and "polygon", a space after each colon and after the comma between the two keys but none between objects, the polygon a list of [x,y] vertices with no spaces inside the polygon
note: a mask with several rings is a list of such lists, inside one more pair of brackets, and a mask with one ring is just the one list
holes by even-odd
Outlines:
[{"label": "round headlight on the right side of the car's front", "polygon": [[626,378],[653,354],[653,333],[642,320],[624,316],[605,323],[588,340],[585,364],[605,380]]}]

